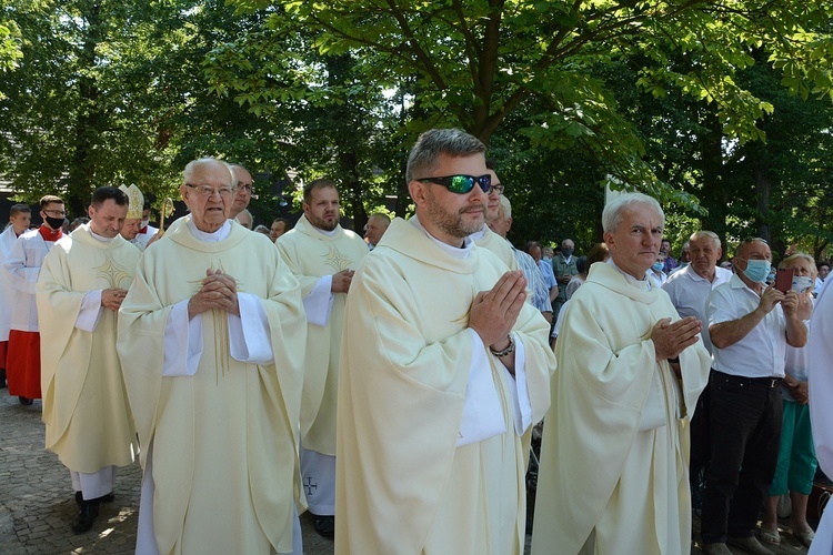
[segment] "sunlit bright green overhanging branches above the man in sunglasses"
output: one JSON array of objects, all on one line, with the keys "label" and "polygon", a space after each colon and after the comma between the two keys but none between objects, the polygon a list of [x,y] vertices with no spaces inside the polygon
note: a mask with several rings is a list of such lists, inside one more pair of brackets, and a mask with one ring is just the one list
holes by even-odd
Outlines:
[{"label": "sunlit bright green overhanging branches above the man in sunglasses", "polygon": [[[740,144],[764,140],[759,122],[773,111],[771,102],[737,81],[759,63],[755,49],[783,69],[791,90],[831,90],[829,39],[813,31],[830,16],[820,1],[777,0],[766,10],[751,0],[230,3],[265,16],[273,34],[244,42],[260,54],[247,59],[270,60],[269,68],[254,71],[258,78],[223,75],[223,65],[242,67],[225,60],[211,78],[218,90],[233,88],[238,100],[255,110],[338,107],[341,94],[313,83],[324,79],[318,73],[323,60],[350,53],[369,69],[364,87],[379,83],[414,95],[399,122],[405,138],[454,124],[490,142],[512,128],[529,148],[593,160],[600,167],[595,188],[605,182],[638,188],[700,215],[705,211],[696,186],[682,186],[693,175],[658,173],[600,69],[626,67],[632,73],[628,87],[635,84],[658,100],[684,98],[706,107],[721,133]],[[807,44],[814,47],[811,52]],[[269,83],[262,79],[267,73],[279,78]],[[249,87],[250,80],[258,87]],[[525,113],[524,122],[508,125],[518,113]]]}]

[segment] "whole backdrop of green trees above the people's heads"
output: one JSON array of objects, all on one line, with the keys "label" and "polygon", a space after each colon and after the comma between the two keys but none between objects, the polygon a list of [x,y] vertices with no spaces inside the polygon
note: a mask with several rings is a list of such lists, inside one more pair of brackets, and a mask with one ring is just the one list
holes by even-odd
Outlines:
[{"label": "whole backdrop of green trees above the people's heads", "polygon": [[[833,7],[812,0],[0,0],[0,173],[19,198],[175,196],[189,160],[255,176],[260,221],[327,175],[361,229],[410,210],[432,127],[490,147],[512,238],[600,239],[604,185],[821,252]],[[288,180],[288,176],[292,180]]]}]

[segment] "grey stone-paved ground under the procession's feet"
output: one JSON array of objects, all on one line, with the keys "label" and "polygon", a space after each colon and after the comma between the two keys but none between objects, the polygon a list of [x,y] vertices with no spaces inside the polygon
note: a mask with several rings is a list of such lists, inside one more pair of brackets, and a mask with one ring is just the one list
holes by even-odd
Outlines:
[{"label": "grey stone-paved ground under the procession's feet", "polygon": [[[43,448],[40,416],[40,401],[22,406],[7,390],[0,390],[0,554],[132,554],[139,512],[139,463],[120,470],[116,502],[101,506],[93,529],[73,534],[70,523],[78,508],[69,471]],[[332,542],[315,534],[309,515],[301,516],[301,527],[304,553],[333,553]],[[694,527],[697,536],[696,519]],[[806,553],[785,531],[786,527],[775,553]],[[529,536],[526,543],[529,551]],[[626,546],[622,553],[628,553]],[[693,544],[691,553],[702,554],[699,544]]]}]

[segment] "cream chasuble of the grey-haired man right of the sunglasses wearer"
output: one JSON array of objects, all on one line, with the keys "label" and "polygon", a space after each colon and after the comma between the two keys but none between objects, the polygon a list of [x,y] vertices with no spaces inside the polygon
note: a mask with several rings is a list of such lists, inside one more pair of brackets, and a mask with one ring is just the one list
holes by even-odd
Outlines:
[{"label": "cream chasuble of the grey-haired man right of the sunglasses wearer", "polygon": [[[688,426],[710,359],[702,340],[683,351],[682,383],[658,365],[649,337],[664,317],[680,320],[668,294],[630,285],[611,264],[593,264],[572,296],[544,418],[533,554],[691,551]],[[659,423],[645,425],[649,413]]]}]

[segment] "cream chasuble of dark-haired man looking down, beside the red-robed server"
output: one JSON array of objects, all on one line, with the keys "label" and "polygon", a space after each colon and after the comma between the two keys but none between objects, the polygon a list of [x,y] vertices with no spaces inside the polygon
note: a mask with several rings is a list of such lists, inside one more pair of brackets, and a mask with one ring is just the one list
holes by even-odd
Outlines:
[{"label": "cream chasuble of dark-haired man looking down, beside the red-robed server", "polygon": [[71,471],[91,474],[133,461],[136,428],[116,352],[117,315],[100,306],[92,331],[76,322],[88,292],[130,286],[139,256],[121,235],[94,239],[88,224],[56,242],[40,270],[47,448]]}]

